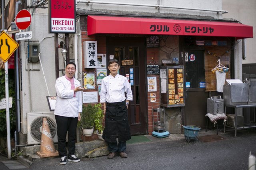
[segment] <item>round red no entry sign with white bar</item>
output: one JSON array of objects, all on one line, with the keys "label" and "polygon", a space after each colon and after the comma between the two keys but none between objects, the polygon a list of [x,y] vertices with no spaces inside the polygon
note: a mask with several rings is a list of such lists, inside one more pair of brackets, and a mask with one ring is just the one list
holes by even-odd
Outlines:
[{"label": "round red no entry sign with white bar", "polygon": [[20,30],[26,30],[31,24],[31,19],[32,17],[28,10],[20,10],[20,12],[18,12],[16,15],[16,26]]}]

